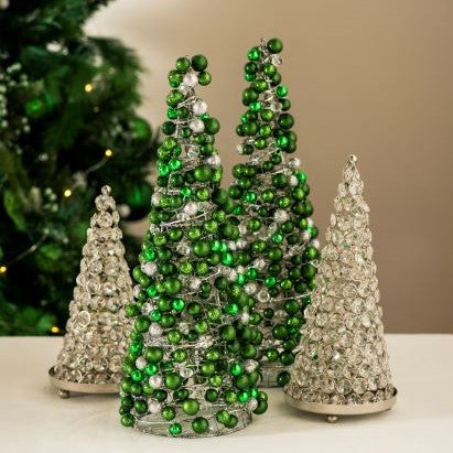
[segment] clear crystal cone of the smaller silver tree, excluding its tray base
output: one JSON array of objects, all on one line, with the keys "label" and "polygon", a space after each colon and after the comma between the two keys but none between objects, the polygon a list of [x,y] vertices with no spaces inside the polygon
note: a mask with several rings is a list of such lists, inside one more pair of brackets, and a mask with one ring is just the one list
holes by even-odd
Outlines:
[{"label": "clear crystal cone of the smaller silver tree, excluding its tray base", "polygon": [[125,310],[133,300],[132,281],[109,186],[96,197],[96,208],[54,369],[71,382],[119,384],[131,331]]}]

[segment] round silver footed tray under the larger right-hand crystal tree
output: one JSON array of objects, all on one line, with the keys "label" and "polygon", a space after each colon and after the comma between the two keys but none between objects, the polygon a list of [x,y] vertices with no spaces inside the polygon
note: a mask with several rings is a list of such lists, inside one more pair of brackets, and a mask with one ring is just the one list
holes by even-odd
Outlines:
[{"label": "round silver footed tray under the larger right-hand crystal tree", "polygon": [[323,405],[321,402],[303,402],[284,393],[284,401],[293,408],[305,412],[322,413],[327,416],[330,423],[335,423],[338,416],[364,416],[367,413],[384,412],[392,408],[397,401],[397,389],[391,398],[379,402],[366,402],[364,405]]}]

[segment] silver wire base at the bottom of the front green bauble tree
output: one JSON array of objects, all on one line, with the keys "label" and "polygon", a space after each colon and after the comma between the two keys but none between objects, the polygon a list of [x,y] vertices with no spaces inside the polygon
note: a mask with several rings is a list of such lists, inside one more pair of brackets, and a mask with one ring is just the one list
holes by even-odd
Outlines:
[{"label": "silver wire base at the bottom of the front green bauble tree", "polygon": [[[235,414],[238,418],[238,423],[235,428],[226,428],[222,423],[216,421],[215,414],[218,410],[225,409],[224,406],[212,406],[202,409],[196,417],[204,417],[209,422],[209,429],[197,434],[192,429],[191,422],[193,418],[187,419],[173,419],[172,421],[162,420],[160,413],[157,414],[145,414],[136,422],[136,430],[145,432],[148,434],[154,435],[165,435],[169,438],[215,438],[217,435],[230,434],[236,431],[240,431],[251,423],[251,412],[244,408],[227,409],[229,413]],[[169,428],[172,423],[181,423],[182,432],[179,435],[171,435],[169,433]]]}]

